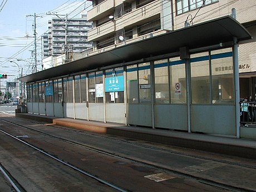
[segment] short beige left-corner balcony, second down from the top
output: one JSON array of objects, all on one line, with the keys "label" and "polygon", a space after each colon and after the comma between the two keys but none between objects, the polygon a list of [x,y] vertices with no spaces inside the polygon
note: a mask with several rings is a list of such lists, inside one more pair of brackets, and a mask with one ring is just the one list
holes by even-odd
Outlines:
[{"label": "short beige left-corner balcony, second down from the top", "polygon": [[91,29],[88,31],[88,41],[95,41],[97,38],[100,38],[105,35],[110,35],[115,32],[115,22],[109,21],[102,24],[99,27]]}]

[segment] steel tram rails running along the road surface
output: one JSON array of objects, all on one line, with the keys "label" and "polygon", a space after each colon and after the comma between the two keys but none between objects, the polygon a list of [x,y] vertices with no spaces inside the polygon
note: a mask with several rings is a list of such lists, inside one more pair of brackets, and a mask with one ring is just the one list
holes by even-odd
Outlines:
[{"label": "steel tram rails running along the road surface", "polygon": [[[85,149],[88,149],[88,150],[92,150],[92,151],[95,151],[95,152],[100,152],[101,154],[104,154],[104,155],[109,155],[109,156],[112,156],[112,157],[116,157],[116,158],[119,158],[119,159],[124,159],[124,160],[129,160],[129,161],[133,161],[135,163],[139,163],[139,164],[143,164],[143,165],[146,165],[146,166],[151,166],[152,168],[156,168],[156,169],[159,169],[159,170],[162,170],[162,171],[166,171],[166,172],[171,172],[173,174],[176,174],[176,175],[180,175],[182,177],[185,177],[185,178],[190,178],[190,179],[195,179],[195,180],[198,180],[199,182],[201,183],[204,183],[204,184],[207,184],[207,185],[211,185],[211,186],[216,186],[218,188],[222,188],[222,189],[227,189],[227,190],[232,190],[232,191],[254,191],[254,190],[249,190],[249,189],[244,189],[244,188],[239,188],[237,186],[232,186],[232,185],[227,185],[227,184],[224,184],[224,183],[219,183],[219,182],[216,182],[216,181],[213,181],[213,180],[209,180],[209,179],[205,179],[205,178],[201,178],[200,176],[195,176],[193,174],[188,174],[188,173],[185,173],[184,171],[181,171],[181,170],[178,170],[178,169],[170,169],[170,168],[166,168],[164,166],[159,166],[159,165],[156,165],[154,163],[150,163],[148,161],[141,161],[141,160],[138,160],[138,159],[134,159],[132,157],[127,157],[127,156],[122,156],[120,154],[116,155],[114,153],[111,153],[111,152],[107,152],[107,151],[104,151],[104,150],[101,150],[101,149],[97,149],[96,147],[92,147],[92,146],[89,146],[89,145],[85,145],[85,144],[81,144],[79,142],[75,142],[75,141],[71,141],[71,140],[68,140],[68,139],[65,139],[63,137],[58,137],[58,136],[55,136],[55,135],[51,135],[51,134],[48,134],[46,132],[43,132],[43,131],[39,131],[39,130],[36,130],[36,129],[32,129],[31,127],[27,127],[27,126],[24,126],[24,125],[19,125],[19,124],[16,124],[14,122],[9,122],[9,121],[6,121],[6,120],[1,120],[3,122],[6,122],[8,124],[12,124],[12,125],[15,125],[15,126],[19,126],[19,127],[23,127],[24,129],[27,129],[29,131],[33,131],[33,132],[37,132],[38,134],[43,134],[45,136],[49,136],[49,137],[52,137],[54,139],[58,139],[58,140],[61,140],[63,142],[67,142],[68,144],[72,144],[72,145],[77,145],[77,146],[80,146],[80,147],[84,147]],[[59,127],[58,127],[59,128]],[[62,128],[62,129],[66,129],[66,128]],[[73,131],[73,132],[79,132],[79,134],[85,134],[87,136],[94,136],[94,137],[99,137],[100,139],[105,139],[105,140],[111,140],[111,141],[115,141],[115,142],[120,142],[120,143],[124,143],[124,144],[129,144],[131,146],[140,146],[140,147],[145,147],[147,149],[151,149],[151,150],[161,150],[161,151],[165,151],[165,152],[169,152],[169,153],[173,153],[173,154],[177,154],[177,155],[184,155],[184,156],[191,156],[191,155],[186,155],[182,152],[176,152],[176,151],[170,151],[170,150],[166,150],[166,149],[161,149],[161,148],[158,148],[158,147],[152,147],[152,146],[146,146],[146,145],[142,145],[142,144],[136,144],[136,143],[132,143],[132,142],[129,142],[129,141],[124,141],[124,140],[116,140],[116,139],[113,139],[113,138],[110,138],[110,137],[105,137],[105,136],[99,136],[99,135],[94,135],[94,134],[88,134],[88,133],[85,133],[85,132],[81,132],[81,131],[76,131],[76,130],[71,130],[71,129],[66,129],[68,131]],[[0,130],[2,132],[4,132],[4,134],[7,134],[7,132],[3,131],[3,130]],[[9,134],[9,136],[12,136],[11,134]],[[24,144],[26,145],[29,145],[31,147],[33,147],[34,149],[36,148],[35,146],[31,145],[31,144],[28,144],[26,141],[23,141],[22,139],[19,139],[17,138],[16,136],[12,136],[14,139],[17,139],[21,142],[23,142]],[[67,165],[67,166],[71,166],[71,168],[73,169],[77,169],[77,171],[82,171],[81,173],[83,173],[83,170],[80,170],[79,168],[77,168],[76,166],[73,166],[71,165],[70,163],[67,163],[63,160],[60,160],[58,159],[58,157],[56,156],[53,156],[51,154],[48,154],[46,151],[43,151],[42,149],[36,149],[36,150],[39,150],[40,152],[42,152],[43,154],[47,155],[47,156],[50,156],[52,157],[53,159],[57,160],[57,161],[60,161],[61,163]],[[255,166],[249,166],[249,165],[246,165],[246,164],[239,164],[239,163],[234,163],[234,162],[231,162],[231,161],[225,161],[225,160],[213,160],[213,159],[209,159],[209,158],[205,158],[205,157],[201,157],[201,156],[198,156],[198,155],[194,155],[193,157],[195,158],[201,158],[201,159],[204,159],[204,160],[211,160],[211,161],[216,161],[218,163],[225,163],[225,164],[232,164],[232,165],[236,165],[236,166],[242,166],[244,168],[250,168],[250,169],[256,169]],[[63,161],[63,162],[62,162]],[[85,171],[86,173],[86,171]],[[92,175],[92,174],[91,174]],[[88,175],[90,176],[90,175]],[[93,178],[93,175],[92,175],[92,178]],[[94,178],[93,178],[94,179]],[[97,179],[97,176],[95,176],[95,179]],[[102,181],[101,181],[102,182]],[[103,181],[102,183],[104,182],[107,182],[107,181]],[[107,184],[107,183],[105,183]],[[108,184],[107,184],[108,185]],[[112,186],[111,186],[112,187]],[[128,191],[128,190],[125,190],[125,189],[122,189],[119,187],[117,188],[117,190],[120,190],[120,191]]]}]

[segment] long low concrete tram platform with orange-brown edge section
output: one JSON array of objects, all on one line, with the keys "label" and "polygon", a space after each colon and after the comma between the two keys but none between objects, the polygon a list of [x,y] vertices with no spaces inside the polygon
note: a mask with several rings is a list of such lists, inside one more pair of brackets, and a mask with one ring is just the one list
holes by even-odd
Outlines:
[{"label": "long low concrete tram platform with orange-brown edge section", "polygon": [[132,139],[156,142],[160,144],[186,147],[232,156],[256,159],[256,141],[230,137],[195,134],[188,132],[132,127],[124,124],[104,123],[77,119],[59,119],[35,114],[16,114],[17,117],[36,119],[56,125],[73,127],[101,134],[119,135]]}]

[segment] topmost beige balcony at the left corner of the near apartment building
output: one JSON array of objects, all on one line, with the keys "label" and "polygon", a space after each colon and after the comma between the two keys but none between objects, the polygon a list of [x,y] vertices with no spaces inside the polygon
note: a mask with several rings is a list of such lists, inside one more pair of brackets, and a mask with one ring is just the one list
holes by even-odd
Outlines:
[{"label": "topmost beige balcony at the left corner of the near apartment building", "polygon": [[101,14],[105,16],[110,14],[115,10],[115,1],[114,0],[105,0],[104,2],[97,4],[90,11],[87,12],[88,21],[95,21],[101,18]]}]

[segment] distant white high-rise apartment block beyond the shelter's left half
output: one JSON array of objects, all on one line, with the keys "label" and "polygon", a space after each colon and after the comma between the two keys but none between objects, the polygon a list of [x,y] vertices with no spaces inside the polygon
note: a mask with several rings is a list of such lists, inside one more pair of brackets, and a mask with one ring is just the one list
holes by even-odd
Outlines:
[{"label": "distant white high-rise apartment block beyond the shelter's left half", "polygon": [[67,18],[67,24],[65,18],[52,18],[48,21],[48,29],[48,48],[46,37],[43,36],[45,58],[59,56],[65,51],[82,52],[92,46],[87,40],[87,32],[92,29],[92,23],[87,21],[86,14],[82,14],[81,18]]}]

